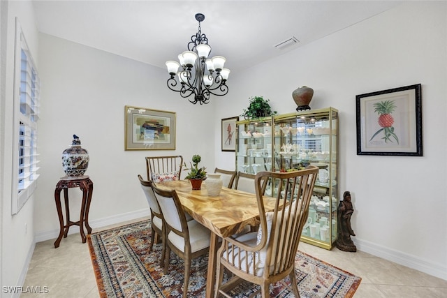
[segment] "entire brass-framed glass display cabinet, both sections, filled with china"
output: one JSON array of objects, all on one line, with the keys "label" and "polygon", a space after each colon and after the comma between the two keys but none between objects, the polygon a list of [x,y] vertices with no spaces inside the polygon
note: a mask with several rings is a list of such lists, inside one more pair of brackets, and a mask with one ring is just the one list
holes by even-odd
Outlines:
[{"label": "entire brass-framed glass display cabinet, both sections, filled with china", "polygon": [[[318,177],[302,241],[331,249],[337,240],[338,111],[333,107],[236,122],[236,169],[249,174],[316,165]],[[265,195],[270,193],[268,186]]]}]

